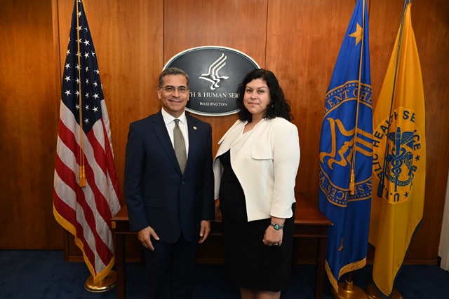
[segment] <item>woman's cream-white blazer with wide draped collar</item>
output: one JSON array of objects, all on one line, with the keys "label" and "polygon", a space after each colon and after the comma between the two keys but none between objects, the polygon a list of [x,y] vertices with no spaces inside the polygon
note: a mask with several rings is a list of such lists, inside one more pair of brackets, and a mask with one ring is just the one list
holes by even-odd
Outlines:
[{"label": "woman's cream-white blazer with wide draped collar", "polygon": [[271,216],[290,218],[300,164],[297,127],[284,118],[262,119],[253,128],[252,142],[240,151],[232,151],[243,136],[246,123],[237,120],[218,142],[220,147],[213,163],[215,199],[219,197],[222,176],[217,157],[231,149],[231,165],[245,193],[248,221]]}]

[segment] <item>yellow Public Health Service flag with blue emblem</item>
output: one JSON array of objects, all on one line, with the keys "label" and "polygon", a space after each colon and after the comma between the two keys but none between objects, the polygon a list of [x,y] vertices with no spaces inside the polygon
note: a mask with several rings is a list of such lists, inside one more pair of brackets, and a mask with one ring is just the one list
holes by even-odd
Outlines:
[{"label": "yellow Public Health Service flag with blue emblem", "polygon": [[424,207],[424,90],[408,2],[373,113],[374,190],[368,242],[375,246],[373,281],[384,295],[393,290]]}]

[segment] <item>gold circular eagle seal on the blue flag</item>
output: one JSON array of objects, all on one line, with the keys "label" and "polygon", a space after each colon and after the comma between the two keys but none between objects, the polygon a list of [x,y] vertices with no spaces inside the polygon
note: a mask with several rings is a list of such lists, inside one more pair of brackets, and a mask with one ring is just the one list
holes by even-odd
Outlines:
[{"label": "gold circular eagle seal on the blue flag", "polygon": [[[364,95],[360,102],[359,90]],[[342,83],[326,94],[320,139],[319,186],[328,202],[338,207],[347,207],[349,202],[370,200],[372,195],[371,94],[371,85],[357,81]],[[353,194],[350,191],[352,169]]]}]

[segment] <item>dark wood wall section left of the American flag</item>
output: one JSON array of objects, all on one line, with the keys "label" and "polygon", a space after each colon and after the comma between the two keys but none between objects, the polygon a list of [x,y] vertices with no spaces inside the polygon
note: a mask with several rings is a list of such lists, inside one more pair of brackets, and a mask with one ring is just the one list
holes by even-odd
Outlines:
[{"label": "dark wood wall section left of the American flag", "polygon": [[49,0],[1,4],[1,249],[62,248],[52,210],[60,80],[51,7]]}]

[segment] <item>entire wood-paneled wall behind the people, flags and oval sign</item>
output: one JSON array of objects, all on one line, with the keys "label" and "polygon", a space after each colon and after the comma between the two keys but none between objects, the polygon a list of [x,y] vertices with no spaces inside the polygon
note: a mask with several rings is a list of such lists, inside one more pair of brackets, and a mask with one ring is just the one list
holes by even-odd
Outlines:
[{"label": "entire wood-paneled wall behind the people, flags and oval sign", "polygon": [[[297,191],[318,202],[319,134],[324,98],[356,0],[83,0],[111,120],[116,171],[123,190],[128,124],[161,107],[159,72],[173,55],[226,46],[274,71],[300,132]],[[60,72],[73,0],[6,0],[0,10],[0,248],[62,249],[53,218],[53,169]],[[403,0],[368,0],[374,104],[401,22]],[[449,168],[449,2],[415,0],[427,126],[424,218],[409,262],[436,263]],[[53,37],[53,39],[52,39]],[[199,118],[216,141],[236,115]],[[71,237],[69,238],[71,239]],[[138,254],[134,239],[131,251]],[[207,246],[219,240],[211,239]],[[215,245],[214,245],[215,244]],[[314,244],[304,244],[314,254]],[[72,249],[73,244],[70,245]],[[214,248],[215,250],[215,248]]]}]

